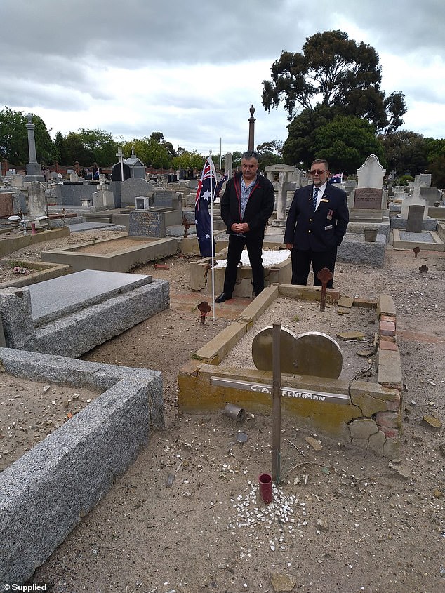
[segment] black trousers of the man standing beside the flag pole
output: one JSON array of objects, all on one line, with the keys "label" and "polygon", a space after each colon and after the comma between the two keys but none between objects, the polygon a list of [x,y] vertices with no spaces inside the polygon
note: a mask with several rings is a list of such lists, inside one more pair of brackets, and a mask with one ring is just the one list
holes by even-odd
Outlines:
[{"label": "black trousers of the man standing beside the flag pole", "polygon": [[227,249],[227,267],[224,276],[224,292],[232,296],[237,281],[238,264],[241,260],[244,246],[247,248],[248,259],[251,263],[253,291],[256,296],[264,288],[263,269],[263,239],[246,239],[243,236],[229,235],[229,248]]}]

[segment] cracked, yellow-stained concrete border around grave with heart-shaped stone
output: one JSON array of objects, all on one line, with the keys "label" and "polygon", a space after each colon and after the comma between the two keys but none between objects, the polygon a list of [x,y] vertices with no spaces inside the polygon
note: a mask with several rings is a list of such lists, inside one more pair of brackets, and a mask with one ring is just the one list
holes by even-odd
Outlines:
[{"label": "cracked, yellow-stained concrete border around grave with heart-shaped stone", "polygon": [[[212,377],[272,384],[272,373],[256,369],[223,366],[226,354],[237,345],[265,310],[279,297],[319,300],[321,288],[282,284],[269,286],[251,302],[239,319],[194,354],[178,376],[178,403],[182,413],[208,413],[224,408],[227,401],[254,413],[270,414],[270,394],[227,389],[211,383]],[[337,302],[338,291],[328,290],[326,302]],[[378,455],[395,460],[401,438],[401,360],[397,347],[396,312],[392,298],[380,294],[378,300],[354,299],[354,306],[375,308],[377,382],[326,379],[305,375],[282,375],[282,385],[303,392],[349,395],[350,403],[338,406],[309,397],[284,397],[284,413],[300,418],[314,431],[331,434]]]}]

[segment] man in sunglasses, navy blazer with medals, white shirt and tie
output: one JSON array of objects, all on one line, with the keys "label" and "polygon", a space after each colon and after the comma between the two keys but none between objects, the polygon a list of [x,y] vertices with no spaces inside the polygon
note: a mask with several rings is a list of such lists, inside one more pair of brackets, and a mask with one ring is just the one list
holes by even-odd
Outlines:
[{"label": "man in sunglasses, navy blazer with medals, white shirt and tie", "polygon": [[[284,243],[292,250],[291,284],[307,284],[312,263],[314,286],[321,286],[317,274],[327,267],[333,275],[337,248],[345,236],[349,211],[345,192],[328,184],[328,161],[315,160],[310,175],[312,184],[300,187],[293,196]],[[327,288],[332,287],[333,279],[327,284]]]}]

